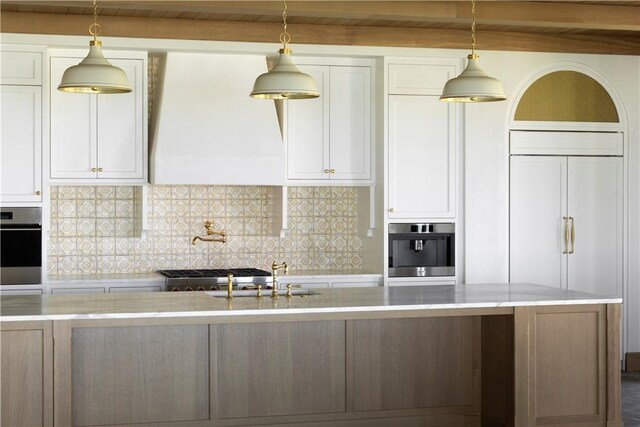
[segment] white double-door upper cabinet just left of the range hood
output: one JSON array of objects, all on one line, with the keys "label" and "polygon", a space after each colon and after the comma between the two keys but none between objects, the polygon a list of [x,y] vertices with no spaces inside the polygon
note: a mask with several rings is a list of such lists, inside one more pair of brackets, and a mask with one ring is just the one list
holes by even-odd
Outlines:
[{"label": "white double-door upper cabinet just left of the range hood", "polygon": [[[77,54],[77,53],[76,53]],[[80,94],[57,90],[64,71],[82,58],[51,57],[51,179],[58,182],[147,181],[147,57],[116,54],[132,92]]]}]

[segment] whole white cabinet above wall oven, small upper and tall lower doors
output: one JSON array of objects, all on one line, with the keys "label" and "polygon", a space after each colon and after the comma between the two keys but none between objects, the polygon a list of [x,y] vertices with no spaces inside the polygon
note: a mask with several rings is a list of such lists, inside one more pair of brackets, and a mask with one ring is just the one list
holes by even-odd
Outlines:
[{"label": "whole white cabinet above wall oven, small upper and tall lower doors", "polygon": [[0,46],[0,201],[42,202],[44,49]]}]

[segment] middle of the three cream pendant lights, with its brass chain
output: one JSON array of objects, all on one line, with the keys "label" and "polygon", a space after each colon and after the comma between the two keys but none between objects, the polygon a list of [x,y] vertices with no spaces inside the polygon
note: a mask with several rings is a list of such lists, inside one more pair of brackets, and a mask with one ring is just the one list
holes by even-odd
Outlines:
[{"label": "middle of the three cream pendant lights, with its brass chain", "polygon": [[258,76],[251,96],[260,99],[307,99],[320,96],[313,78],[300,72],[291,60],[291,49],[287,44],[291,36],[287,33],[287,3],[282,12],[283,32],[280,34],[282,49],[278,63],[269,71]]}]

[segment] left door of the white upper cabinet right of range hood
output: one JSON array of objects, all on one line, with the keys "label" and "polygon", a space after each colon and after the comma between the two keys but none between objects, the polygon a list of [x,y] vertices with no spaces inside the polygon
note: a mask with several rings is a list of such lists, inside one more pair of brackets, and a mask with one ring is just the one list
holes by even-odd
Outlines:
[{"label": "left door of the white upper cabinet right of range hood", "polygon": [[329,67],[300,66],[316,82],[319,98],[287,102],[287,178],[329,179]]}]

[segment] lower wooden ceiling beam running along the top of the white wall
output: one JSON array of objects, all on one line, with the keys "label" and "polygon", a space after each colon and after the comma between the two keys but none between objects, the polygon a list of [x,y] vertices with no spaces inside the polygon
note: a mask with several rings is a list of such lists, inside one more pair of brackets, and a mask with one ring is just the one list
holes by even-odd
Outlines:
[{"label": "lower wooden ceiling beam running along the top of the white wall", "polygon": [[[280,24],[199,21],[187,19],[103,16],[103,35],[180,40],[277,43]],[[3,12],[0,28],[7,33],[87,35],[87,17]],[[372,26],[296,25],[295,44],[394,46],[469,49],[467,30]],[[639,55],[640,38],[577,34],[483,31],[479,50],[574,52]]]}]

